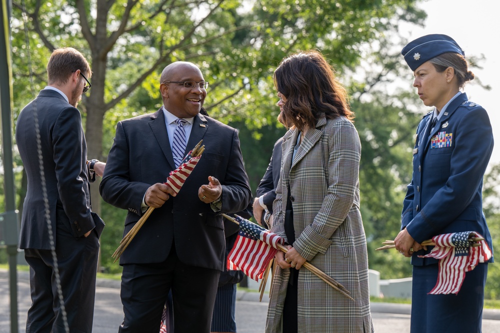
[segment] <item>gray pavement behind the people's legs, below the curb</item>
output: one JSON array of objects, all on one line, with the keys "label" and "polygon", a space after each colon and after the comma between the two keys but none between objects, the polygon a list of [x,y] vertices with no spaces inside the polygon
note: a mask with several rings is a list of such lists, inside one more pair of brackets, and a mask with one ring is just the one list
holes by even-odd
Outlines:
[{"label": "gray pavement behind the people's legs, below the curb", "polygon": [[[24,333],[26,313],[31,304],[27,272],[18,272],[17,289],[19,332]],[[118,331],[118,326],[123,320],[119,291],[119,281],[97,279],[94,333]],[[5,270],[0,270],[0,333],[10,333],[9,300],[8,274]],[[264,332],[267,301],[267,295],[264,295],[262,302],[259,302],[257,293],[238,290],[236,301],[238,333]],[[410,309],[411,306],[407,304],[371,303],[375,332],[409,332]],[[484,309],[482,332],[500,333],[500,310]]]}]

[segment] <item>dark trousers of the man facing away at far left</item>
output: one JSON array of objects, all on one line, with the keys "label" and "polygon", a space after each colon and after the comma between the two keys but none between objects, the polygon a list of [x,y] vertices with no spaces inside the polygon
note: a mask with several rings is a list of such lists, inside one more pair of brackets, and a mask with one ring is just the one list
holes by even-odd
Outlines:
[{"label": "dark trousers of the man facing away at far left", "polygon": [[[92,332],[99,254],[97,234],[91,232],[86,238],[74,238],[68,230],[57,225],[55,239],[69,332]],[[29,265],[32,302],[27,314],[26,333],[66,332],[51,251],[25,249],[24,257]]]}]

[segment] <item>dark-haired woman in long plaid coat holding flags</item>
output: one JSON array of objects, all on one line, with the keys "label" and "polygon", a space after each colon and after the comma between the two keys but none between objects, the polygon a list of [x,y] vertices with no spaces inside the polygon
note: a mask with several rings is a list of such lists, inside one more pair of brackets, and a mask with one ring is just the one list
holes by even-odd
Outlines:
[{"label": "dark-haired woman in long plaid coat holding flags", "polygon": [[[317,51],[284,58],[274,72],[283,117],[280,179],[271,231],[276,254],[266,333],[373,332],[366,238],[359,213],[361,146],[345,89]],[[343,285],[354,301],[305,268]]]}]

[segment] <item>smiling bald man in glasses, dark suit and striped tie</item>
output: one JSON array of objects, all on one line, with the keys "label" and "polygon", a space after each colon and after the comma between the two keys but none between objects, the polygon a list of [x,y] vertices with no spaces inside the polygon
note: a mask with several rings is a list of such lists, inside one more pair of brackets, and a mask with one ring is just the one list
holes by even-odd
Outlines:
[{"label": "smiling bald man in glasses, dark suit and striped tie", "polygon": [[[119,332],[157,333],[170,289],[175,332],[210,330],[225,265],[220,213],[245,209],[251,191],[237,131],[199,114],[206,86],[198,67],[174,62],[161,73],[163,106],[116,126],[100,184],[102,198],[128,210],[124,234],[147,206],[155,208],[120,257],[125,317]],[[187,142],[181,153],[175,153],[178,122],[184,123]],[[201,139],[205,151],[175,195],[163,182],[178,166],[179,155]]]}]

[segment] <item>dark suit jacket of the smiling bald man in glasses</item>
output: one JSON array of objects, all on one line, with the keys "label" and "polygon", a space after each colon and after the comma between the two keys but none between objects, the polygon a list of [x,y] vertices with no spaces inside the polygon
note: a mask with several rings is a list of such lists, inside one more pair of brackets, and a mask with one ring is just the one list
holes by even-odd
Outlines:
[{"label": "dark suit jacket of the smiling bald man in glasses", "polygon": [[[223,270],[222,216],[198,198],[208,176],[222,184],[222,209],[235,213],[251,199],[237,130],[212,118],[194,117],[186,154],[203,139],[205,151],[176,197],[155,209],[120,257],[120,264],[164,261],[175,240],[177,257],[187,265]],[[128,210],[123,235],[142,215],[140,204],[147,188],[163,183],[175,169],[162,109],[118,122],[113,146],[100,183],[102,198]]]}]

